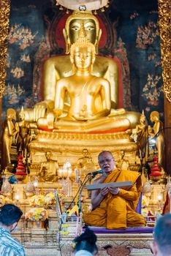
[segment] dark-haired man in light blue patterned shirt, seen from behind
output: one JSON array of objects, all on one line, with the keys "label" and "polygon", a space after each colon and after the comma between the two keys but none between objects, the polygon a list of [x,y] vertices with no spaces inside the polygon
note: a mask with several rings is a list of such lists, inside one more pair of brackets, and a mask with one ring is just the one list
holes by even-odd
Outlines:
[{"label": "dark-haired man in light blue patterned shirt, seen from behind", "polygon": [[0,208],[0,255],[25,256],[23,246],[11,236],[12,230],[18,225],[23,212],[13,204]]}]

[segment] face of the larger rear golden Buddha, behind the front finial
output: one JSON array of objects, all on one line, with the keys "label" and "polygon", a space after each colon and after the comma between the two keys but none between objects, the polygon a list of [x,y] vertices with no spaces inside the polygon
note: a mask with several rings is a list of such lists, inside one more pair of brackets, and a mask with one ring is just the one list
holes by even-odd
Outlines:
[{"label": "face of the larger rear golden Buddha, behind the front finial", "polygon": [[73,19],[69,24],[69,38],[71,44],[77,41],[81,24],[83,24],[84,29],[86,31],[86,37],[89,42],[94,44],[96,42],[96,23],[93,19]]}]

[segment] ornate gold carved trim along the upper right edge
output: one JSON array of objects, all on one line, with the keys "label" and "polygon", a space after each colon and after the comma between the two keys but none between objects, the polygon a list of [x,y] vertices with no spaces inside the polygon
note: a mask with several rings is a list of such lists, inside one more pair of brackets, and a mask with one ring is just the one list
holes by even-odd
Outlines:
[{"label": "ornate gold carved trim along the upper right edge", "polygon": [[164,94],[171,102],[171,75],[170,75],[170,61],[171,61],[171,34],[170,34],[170,0],[158,0],[159,6],[159,27],[161,39],[161,64],[162,76],[164,83]]}]

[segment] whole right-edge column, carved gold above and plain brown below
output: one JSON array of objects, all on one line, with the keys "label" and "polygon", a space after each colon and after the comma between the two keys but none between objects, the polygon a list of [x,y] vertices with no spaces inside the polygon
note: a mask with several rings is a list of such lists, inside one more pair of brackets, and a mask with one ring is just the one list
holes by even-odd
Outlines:
[{"label": "whole right-edge column, carved gold above and plain brown below", "polygon": [[[170,0],[158,0],[159,27],[161,38],[161,64],[164,83],[164,127],[171,127],[171,34],[170,34]],[[166,165],[165,170],[171,176],[171,129],[165,129]]]}]

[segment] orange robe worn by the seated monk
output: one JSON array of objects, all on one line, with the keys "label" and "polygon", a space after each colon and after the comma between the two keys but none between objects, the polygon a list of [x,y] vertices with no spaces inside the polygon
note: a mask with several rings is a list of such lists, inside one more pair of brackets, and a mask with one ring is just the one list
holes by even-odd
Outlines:
[{"label": "orange robe worn by the seated monk", "polygon": [[133,185],[120,188],[118,195],[112,195],[110,192],[105,195],[97,208],[83,214],[86,225],[107,229],[145,226],[144,217],[135,211],[142,188],[140,173],[116,169],[107,176],[104,183],[120,181],[132,181]]}]

